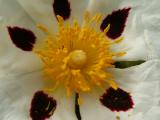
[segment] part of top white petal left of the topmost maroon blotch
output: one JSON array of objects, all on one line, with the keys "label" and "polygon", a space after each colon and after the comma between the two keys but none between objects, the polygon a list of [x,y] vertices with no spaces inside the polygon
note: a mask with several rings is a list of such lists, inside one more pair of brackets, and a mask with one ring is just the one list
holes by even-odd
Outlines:
[{"label": "part of top white petal left of the topmost maroon blotch", "polygon": [[36,24],[43,24],[50,31],[57,29],[57,20],[53,13],[53,0],[17,0],[24,10],[35,20]]}]

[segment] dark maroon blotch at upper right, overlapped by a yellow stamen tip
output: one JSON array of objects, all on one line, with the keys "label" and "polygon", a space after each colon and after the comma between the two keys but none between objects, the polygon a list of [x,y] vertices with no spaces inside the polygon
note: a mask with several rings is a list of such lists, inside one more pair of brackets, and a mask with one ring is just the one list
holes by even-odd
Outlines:
[{"label": "dark maroon blotch at upper right, overlapped by a yellow stamen tip", "polygon": [[116,39],[121,36],[125,23],[131,8],[124,8],[117,11],[113,11],[109,14],[100,26],[100,29],[103,31],[108,24],[110,24],[110,30],[107,32],[107,36],[111,39]]}]

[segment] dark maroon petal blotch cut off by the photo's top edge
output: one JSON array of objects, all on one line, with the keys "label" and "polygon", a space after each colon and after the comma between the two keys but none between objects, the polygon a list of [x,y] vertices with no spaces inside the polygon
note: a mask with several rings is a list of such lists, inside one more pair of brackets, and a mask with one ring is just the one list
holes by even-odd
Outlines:
[{"label": "dark maroon petal blotch cut off by the photo's top edge", "polygon": [[70,3],[68,0],[54,0],[53,11],[55,15],[60,15],[64,20],[68,19],[71,14]]}]

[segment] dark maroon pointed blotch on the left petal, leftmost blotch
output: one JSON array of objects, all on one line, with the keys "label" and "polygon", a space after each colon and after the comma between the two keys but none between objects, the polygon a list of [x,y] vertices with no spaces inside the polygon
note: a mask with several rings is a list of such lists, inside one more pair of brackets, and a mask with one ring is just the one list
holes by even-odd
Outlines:
[{"label": "dark maroon pointed blotch on the left petal, leftmost blotch", "polygon": [[12,42],[24,51],[32,51],[36,42],[36,36],[28,29],[20,27],[8,27],[8,32]]}]

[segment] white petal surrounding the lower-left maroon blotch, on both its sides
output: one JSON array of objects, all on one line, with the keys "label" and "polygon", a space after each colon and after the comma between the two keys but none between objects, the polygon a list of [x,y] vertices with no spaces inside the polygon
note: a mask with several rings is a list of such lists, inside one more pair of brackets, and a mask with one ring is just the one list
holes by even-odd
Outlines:
[{"label": "white petal surrounding the lower-left maroon blotch, on both its sides", "polygon": [[[42,90],[45,77],[42,71],[0,78],[1,120],[29,120],[30,104],[36,91]],[[50,120],[76,120],[74,98],[67,98],[62,90],[53,94],[57,107]]]}]

